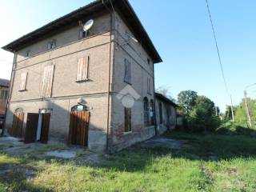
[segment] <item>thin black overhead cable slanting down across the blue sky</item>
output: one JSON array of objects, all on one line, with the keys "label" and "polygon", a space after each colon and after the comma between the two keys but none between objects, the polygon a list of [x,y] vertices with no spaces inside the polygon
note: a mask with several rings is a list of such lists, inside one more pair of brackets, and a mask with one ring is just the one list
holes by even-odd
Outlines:
[{"label": "thin black overhead cable slanting down across the blue sky", "polygon": [[229,89],[228,89],[228,86],[227,86],[227,83],[226,83],[226,78],[225,78],[223,66],[222,66],[222,58],[221,58],[221,55],[220,55],[219,49],[218,49],[218,42],[217,42],[215,30],[214,30],[214,22],[213,22],[213,19],[212,19],[212,17],[211,17],[211,14],[210,14],[210,6],[209,6],[209,3],[208,3],[208,0],[206,0],[206,6],[207,6],[209,18],[210,18],[211,29],[213,30],[213,34],[214,34],[214,42],[215,42],[216,50],[217,50],[217,53],[218,53],[218,62],[219,62],[219,64],[220,64],[220,66],[221,66],[222,78],[223,78],[223,81],[224,81],[224,84],[225,84],[226,93],[227,93],[227,94],[230,94]]}]

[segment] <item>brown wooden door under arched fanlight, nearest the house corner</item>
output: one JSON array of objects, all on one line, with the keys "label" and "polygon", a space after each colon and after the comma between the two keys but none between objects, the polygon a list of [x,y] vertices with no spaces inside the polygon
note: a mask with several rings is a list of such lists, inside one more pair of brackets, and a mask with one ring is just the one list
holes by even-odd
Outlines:
[{"label": "brown wooden door under arched fanlight, nearest the house corner", "polygon": [[88,145],[90,112],[73,111],[70,114],[69,143],[78,146]]}]

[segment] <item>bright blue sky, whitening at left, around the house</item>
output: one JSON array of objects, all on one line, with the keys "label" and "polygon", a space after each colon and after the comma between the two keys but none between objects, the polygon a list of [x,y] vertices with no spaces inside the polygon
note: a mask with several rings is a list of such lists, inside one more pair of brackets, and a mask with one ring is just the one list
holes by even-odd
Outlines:
[{"label": "bright blue sky, whitening at left, around the house", "polygon": [[[92,0],[0,0],[0,46]],[[227,86],[234,105],[256,82],[256,1],[208,0]],[[156,87],[177,98],[195,90],[222,111],[230,105],[218,62],[205,0],[130,0],[163,62],[155,65]],[[0,50],[0,78],[10,78],[13,54]],[[249,96],[256,96],[251,87]]]}]

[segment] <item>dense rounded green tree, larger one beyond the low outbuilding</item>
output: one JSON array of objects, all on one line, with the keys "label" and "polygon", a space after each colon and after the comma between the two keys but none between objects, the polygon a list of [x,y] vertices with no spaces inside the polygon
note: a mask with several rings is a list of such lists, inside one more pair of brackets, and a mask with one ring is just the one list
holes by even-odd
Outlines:
[{"label": "dense rounded green tree, larger one beyond the low outbuilding", "polygon": [[214,102],[206,96],[198,96],[190,110],[188,124],[193,131],[211,131],[218,128],[220,119],[216,115]]}]

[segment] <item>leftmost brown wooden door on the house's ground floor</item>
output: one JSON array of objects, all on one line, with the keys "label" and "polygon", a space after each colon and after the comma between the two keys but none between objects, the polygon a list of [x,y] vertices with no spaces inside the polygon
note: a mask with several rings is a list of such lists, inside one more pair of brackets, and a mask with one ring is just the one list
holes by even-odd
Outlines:
[{"label": "leftmost brown wooden door on the house's ground floor", "polygon": [[22,126],[23,126],[24,114],[15,113],[13,119],[13,125],[8,131],[10,136],[14,138],[22,138]]}]

